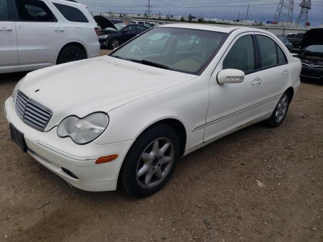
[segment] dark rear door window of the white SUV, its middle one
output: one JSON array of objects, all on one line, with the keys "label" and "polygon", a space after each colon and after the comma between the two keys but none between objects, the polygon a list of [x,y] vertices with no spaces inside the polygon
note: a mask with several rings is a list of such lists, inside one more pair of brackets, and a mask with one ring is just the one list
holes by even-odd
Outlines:
[{"label": "dark rear door window of the white SUV, its middle one", "polygon": [[16,6],[18,11],[18,21],[57,22],[56,17],[42,1],[16,0]]}]

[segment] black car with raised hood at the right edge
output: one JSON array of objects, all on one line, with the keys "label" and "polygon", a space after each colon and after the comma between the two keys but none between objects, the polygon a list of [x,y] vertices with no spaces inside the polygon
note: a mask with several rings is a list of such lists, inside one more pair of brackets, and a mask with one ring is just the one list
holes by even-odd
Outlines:
[{"label": "black car with raised hood at the right edge", "polygon": [[301,77],[323,81],[323,28],[310,29],[300,44]]}]

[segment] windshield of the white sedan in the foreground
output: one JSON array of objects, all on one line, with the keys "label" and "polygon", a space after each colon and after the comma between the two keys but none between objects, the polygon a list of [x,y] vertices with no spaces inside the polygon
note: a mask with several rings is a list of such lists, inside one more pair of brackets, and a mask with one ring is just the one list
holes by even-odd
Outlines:
[{"label": "windshield of the white sedan in the foreground", "polygon": [[158,27],[138,36],[110,55],[196,75],[226,36],[226,33],[206,30]]}]

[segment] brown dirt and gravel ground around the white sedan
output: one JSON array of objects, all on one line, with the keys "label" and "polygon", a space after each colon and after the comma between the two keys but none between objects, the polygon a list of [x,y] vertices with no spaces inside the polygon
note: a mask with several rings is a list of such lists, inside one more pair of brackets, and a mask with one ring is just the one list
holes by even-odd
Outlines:
[{"label": "brown dirt and gravel ground around the white sedan", "polygon": [[[24,75],[0,75],[1,103]],[[323,241],[322,127],[323,85],[302,83],[282,126],[182,158],[138,200],[68,186],[10,140],[1,108],[0,241]]]}]

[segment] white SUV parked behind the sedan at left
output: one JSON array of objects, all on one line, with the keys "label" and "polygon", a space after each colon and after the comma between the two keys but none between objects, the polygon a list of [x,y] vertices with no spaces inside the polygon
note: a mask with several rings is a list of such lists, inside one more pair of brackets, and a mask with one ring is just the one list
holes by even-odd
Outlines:
[{"label": "white SUV parked behind the sedan at left", "polygon": [[32,71],[99,54],[86,6],[67,0],[0,0],[0,73]]}]

